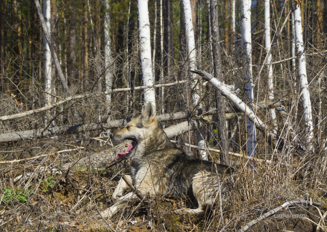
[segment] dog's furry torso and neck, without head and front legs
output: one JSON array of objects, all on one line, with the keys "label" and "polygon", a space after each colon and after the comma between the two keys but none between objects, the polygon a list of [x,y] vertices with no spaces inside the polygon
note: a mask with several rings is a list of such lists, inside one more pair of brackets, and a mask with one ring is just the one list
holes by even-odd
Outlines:
[{"label": "dog's furry torso and neck, without head and front legs", "polygon": [[[156,139],[148,142],[142,158],[134,156],[131,159],[131,176],[134,183],[139,183],[136,184],[139,190],[144,194],[183,199],[194,195],[199,207],[214,205],[219,183],[224,193],[234,170],[187,155],[170,142],[160,127],[155,134]],[[140,170],[146,174],[140,175]]]}]

